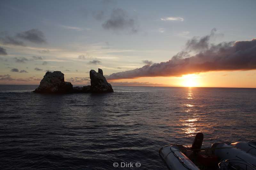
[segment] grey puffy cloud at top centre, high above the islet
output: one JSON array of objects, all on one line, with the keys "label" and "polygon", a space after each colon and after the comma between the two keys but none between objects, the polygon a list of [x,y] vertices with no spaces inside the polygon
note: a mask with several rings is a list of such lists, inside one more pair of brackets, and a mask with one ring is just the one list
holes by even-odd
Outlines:
[{"label": "grey puffy cloud at top centre, high above the islet", "polygon": [[132,33],[138,31],[138,24],[135,18],[128,16],[127,12],[121,8],[113,9],[110,18],[102,24],[107,30],[129,29]]}]

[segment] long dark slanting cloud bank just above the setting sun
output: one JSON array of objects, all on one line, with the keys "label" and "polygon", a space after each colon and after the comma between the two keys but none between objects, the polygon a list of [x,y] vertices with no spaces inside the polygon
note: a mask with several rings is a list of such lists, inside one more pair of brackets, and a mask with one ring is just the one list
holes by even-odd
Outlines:
[{"label": "long dark slanting cloud bank just above the setting sun", "polygon": [[[185,50],[173,56],[167,62],[145,65],[141,68],[113,73],[106,76],[108,80],[138,77],[179,77],[186,74],[224,71],[224,70],[255,70],[256,39],[251,41],[231,41],[210,44],[214,35],[200,39],[192,38],[186,43]],[[190,55],[194,52],[194,55]],[[186,57],[186,58],[184,58]]]}]

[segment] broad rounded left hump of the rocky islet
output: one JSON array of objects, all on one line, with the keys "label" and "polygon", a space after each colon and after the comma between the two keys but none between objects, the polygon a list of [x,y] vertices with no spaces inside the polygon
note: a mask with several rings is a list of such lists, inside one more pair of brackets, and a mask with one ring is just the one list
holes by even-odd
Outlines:
[{"label": "broad rounded left hump of the rocky islet", "polygon": [[64,81],[64,74],[60,71],[47,71],[40,85],[34,92],[37,93],[68,93],[72,92],[73,85]]}]

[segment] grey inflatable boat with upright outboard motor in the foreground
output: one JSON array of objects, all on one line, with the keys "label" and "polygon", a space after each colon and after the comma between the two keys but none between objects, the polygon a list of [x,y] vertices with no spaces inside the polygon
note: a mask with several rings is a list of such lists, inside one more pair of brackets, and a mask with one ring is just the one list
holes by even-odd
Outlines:
[{"label": "grey inflatable boat with upright outboard motor in the foreground", "polygon": [[256,142],[214,143],[201,148],[204,135],[197,133],[192,147],[170,144],[159,150],[169,170],[256,170]]}]

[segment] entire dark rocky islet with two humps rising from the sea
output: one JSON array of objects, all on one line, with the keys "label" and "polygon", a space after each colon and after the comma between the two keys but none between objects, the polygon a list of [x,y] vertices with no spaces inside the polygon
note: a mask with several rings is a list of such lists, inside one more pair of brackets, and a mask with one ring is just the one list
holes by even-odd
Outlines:
[{"label": "entire dark rocky islet with two humps rising from the sea", "polygon": [[95,70],[90,71],[91,85],[83,87],[73,87],[70,82],[64,81],[64,74],[60,71],[47,71],[44,78],[41,80],[40,85],[36,88],[37,93],[100,93],[100,92],[114,92],[112,86],[107,82],[103,76],[103,71]]}]

